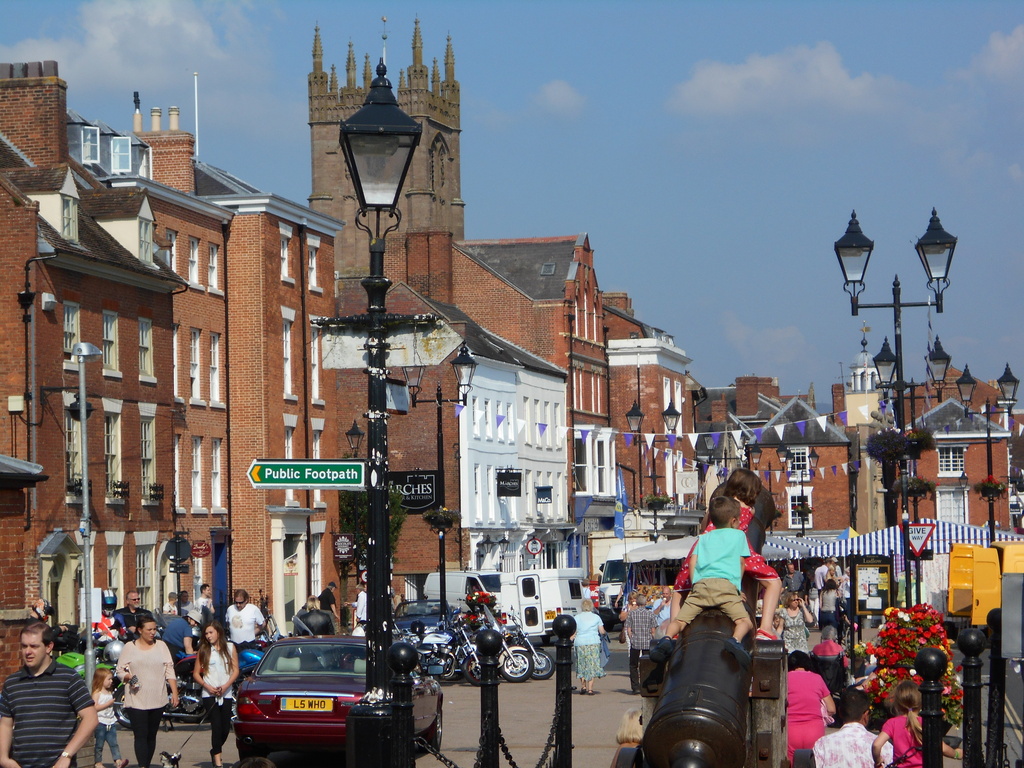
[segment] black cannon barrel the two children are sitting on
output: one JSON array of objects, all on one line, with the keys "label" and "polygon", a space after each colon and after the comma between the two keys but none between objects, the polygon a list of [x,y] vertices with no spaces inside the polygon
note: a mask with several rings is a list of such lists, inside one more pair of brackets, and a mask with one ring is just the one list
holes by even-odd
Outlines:
[{"label": "black cannon barrel the two children are sitting on", "polygon": [[[733,623],[700,613],[668,662],[662,696],[644,731],[653,768],[741,768],[746,760],[751,670],[726,650]],[[750,647],[750,638],[744,645]]]}]

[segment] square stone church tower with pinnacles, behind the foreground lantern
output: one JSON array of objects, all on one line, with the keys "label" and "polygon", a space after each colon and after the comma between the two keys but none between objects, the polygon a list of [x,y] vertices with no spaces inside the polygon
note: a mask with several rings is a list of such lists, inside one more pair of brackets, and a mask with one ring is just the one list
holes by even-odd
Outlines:
[{"label": "square stone church tower with pinnacles, behind the foreground lantern", "polygon": [[[339,278],[366,274],[368,256],[366,234],[354,226],[357,202],[345,169],[345,159],[338,141],[342,120],[355,113],[366,99],[373,80],[367,54],[362,82],[356,84],[355,52],[348,44],[345,82],[339,84],[334,65],[331,74],[324,71],[324,48],[319,27],[313,35],[313,70],[309,73],[309,133],[312,160],[312,193],[309,206],[316,211],[343,219],[348,225],[338,238],[335,263]],[[444,79],[437,59],[428,71],[423,63],[423,39],[420,20],[413,33],[413,63],[408,70],[388,69],[388,79],[397,84],[398,105],[423,126],[423,137],[413,156],[413,166],[406,177],[399,202],[401,227],[388,236],[388,251],[406,238],[401,233],[443,233],[445,239],[465,237],[465,203],[462,200],[460,161],[460,95],[455,79],[455,54],[452,38],[444,50]]]}]

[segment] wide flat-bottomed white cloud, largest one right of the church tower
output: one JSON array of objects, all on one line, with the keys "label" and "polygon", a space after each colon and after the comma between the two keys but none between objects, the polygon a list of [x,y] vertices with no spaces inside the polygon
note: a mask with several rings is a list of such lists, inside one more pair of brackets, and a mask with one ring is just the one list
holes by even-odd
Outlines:
[{"label": "wide flat-bottomed white cloud, largest one right of the church tower", "polygon": [[820,42],[771,55],[752,54],[739,65],[705,60],[676,85],[670,111],[691,116],[737,116],[794,109],[879,112],[902,87],[888,77],[853,77],[836,47]]}]

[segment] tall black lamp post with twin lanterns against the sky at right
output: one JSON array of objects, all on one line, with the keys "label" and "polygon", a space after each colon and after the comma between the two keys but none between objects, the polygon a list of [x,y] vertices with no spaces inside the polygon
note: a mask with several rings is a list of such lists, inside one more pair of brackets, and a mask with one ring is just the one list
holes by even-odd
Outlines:
[{"label": "tall black lamp post with twin lanterns against the sky at right", "polygon": [[[942,228],[936,210],[932,209],[932,217],[928,222],[928,229],[918,241],[915,250],[921,259],[921,264],[928,275],[928,285],[935,295],[935,310],[942,311],[942,294],[949,287],[949,267],[953,260],[953,251],[956,248],[956,238]],[[874,243],[868,240],[860,228],[857,221],[857,212],[850,215],[850,223],[846,233],[836,241],[836,257],[839,259],[840,268],[843,270],[843,287],[850,294],[850,312],[857,315],[861,308],[864,309],[892,309],[893,310],[893,340],[896,344],[895,354],[889,348],[888,339],[883,345],[883,352],[874,359],[876,368],[883,381],[889,382],[889,387],[896,392],[896,427],[904,429],[906,418],[903,410],[903,391],[907,387],[906,379],[903,377],[903,308],[904,307],[930,307],[932,302],[902,300],[902,290],[900,289],[899,276],[893,279],[893,300],[888,304],[861,304],[858,297],[864,290],[864,274],[867,272],[867,263],[874,250]],[[888,350],[888,354],[885,352]],[[888,374],[888,375],[886,375]],[[906,477],[906,460],[901,460],[902,475]],[[903,516],[909,519],[907,510],[906,480],[902,481],[902,511]],[[887,520],[893,524],[894,520]],[[906,604],[911,604],[910,598],[910,548],[907,539],[906,525],[903,525],[903,559],[906,570]]]}]

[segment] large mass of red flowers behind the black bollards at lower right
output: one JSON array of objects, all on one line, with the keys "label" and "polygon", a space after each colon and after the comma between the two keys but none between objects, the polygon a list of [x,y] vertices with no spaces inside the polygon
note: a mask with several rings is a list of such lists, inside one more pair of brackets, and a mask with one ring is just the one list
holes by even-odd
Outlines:
[{"label": "large mass of red flowers behind the black bollards at lower right", "polygon": [[950,725],[959,725],[964,719],[964,689],[956,673],[959,668],[952,664],[952,647],[942,625],[943,614],[930,605],[914,605],[911,608],[887,608],[886,623],[873,643],[867,643],[865,650],[878,662],[874,677],[864,684],[864,690],[871,697],[871,719],[884,720],[890,717],[885,707],[889,691],[898,683],[912,679],[919,685],[924,678],[913,669],[918,651],[925,647],[939,648],[949,659],[942,683],[942,711]]}]

